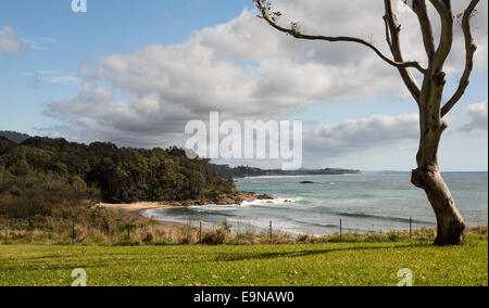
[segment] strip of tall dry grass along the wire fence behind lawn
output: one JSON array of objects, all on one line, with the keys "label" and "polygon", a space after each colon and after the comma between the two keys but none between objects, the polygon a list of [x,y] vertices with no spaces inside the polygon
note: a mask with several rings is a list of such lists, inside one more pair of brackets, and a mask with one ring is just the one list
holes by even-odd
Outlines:
[{"label": "strip of tall dry grass along the wire fence behind lawn", "polygon": [[[54,223],[54,221],[48,221]],[[58,226],[58,229],[10,230],[8,243],[26,244],[61,244],[61,245],[100,245],[100,246],[141,246],[141,245],[259,245],[259,244],[318,244],[318,243],[375,243],[402,242],[409,240],[432,241],[436,229],[396,232],[348,233],[314,236],[301,234],[292,236],[285,233],[274,233],[272,236],[258,233],[254,230],[246,232],[231,232],[230,226],[223,223],[216,228],[206,228],[202,231],[191,222],[187,224],[161,223],[151,219],[138,219],[130,223],[129,231],[124,228],[101,231],[100,228],[90,228],[87,224]],[[48,229],[49,230],[49,229]],[[58,231],[57,231],[58,230]],[[467,228],[466,235],[487,235],[487,226]],[[4,242],[4,232],[0,241]]]}]

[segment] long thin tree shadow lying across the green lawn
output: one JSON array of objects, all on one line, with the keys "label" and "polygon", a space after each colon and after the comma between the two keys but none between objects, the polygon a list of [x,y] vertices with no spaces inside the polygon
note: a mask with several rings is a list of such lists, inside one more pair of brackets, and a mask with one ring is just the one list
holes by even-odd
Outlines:
[{"label": "long thin tree shadow lying across the green lawn", "polygon": [[309,257],[316,255],[326,255],[330,253],[339,253],[339,252],[361,252],[361,251],[387,251],[387,249],[406,249],[414,247],[432,247],[428,244],[409,244],[409,245],[400,245],[400,246],[367,246],[367,247],[348,247],[348,248],[329,248],[329,249],[303,249],[296,252],[276,252],[276,253],[246,253],[239,255],[220,255],[215,258],[215,261],[222,262],[233,262],[233,261],[243,261],[243,260],[264,260],[264,259],[275,259],[275,258],[300,258],[300,257]]}]

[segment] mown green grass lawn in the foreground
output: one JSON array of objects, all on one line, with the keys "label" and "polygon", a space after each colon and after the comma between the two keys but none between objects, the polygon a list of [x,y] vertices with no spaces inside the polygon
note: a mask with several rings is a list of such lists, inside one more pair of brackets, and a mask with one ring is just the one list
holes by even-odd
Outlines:
[{"label": "mown green grass lawn in the foreground", "polygon": [[426,241],[256,246],[83,247],[0,245],[0,285],[488,285],[488,238],[462,247]]}]

